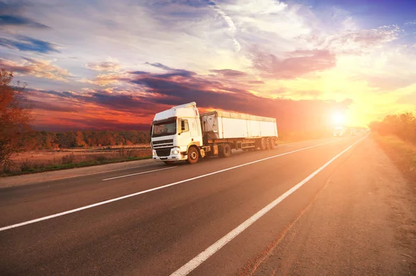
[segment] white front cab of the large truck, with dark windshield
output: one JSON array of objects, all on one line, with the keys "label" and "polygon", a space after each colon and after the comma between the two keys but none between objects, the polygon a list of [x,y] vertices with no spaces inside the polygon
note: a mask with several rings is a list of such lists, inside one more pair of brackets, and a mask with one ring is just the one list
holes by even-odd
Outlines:
[{"label": "white front cab of the large truck, with dark windshield", "polygon": [[[186,103],[155,114],[152,122],[153,159],[166,164],[187,160],[190,146],[202,146],[202,130],[196,103]],[[199,154],[198,150],[191,154]],[[198,157],[196,157],[198,159]]]}]

